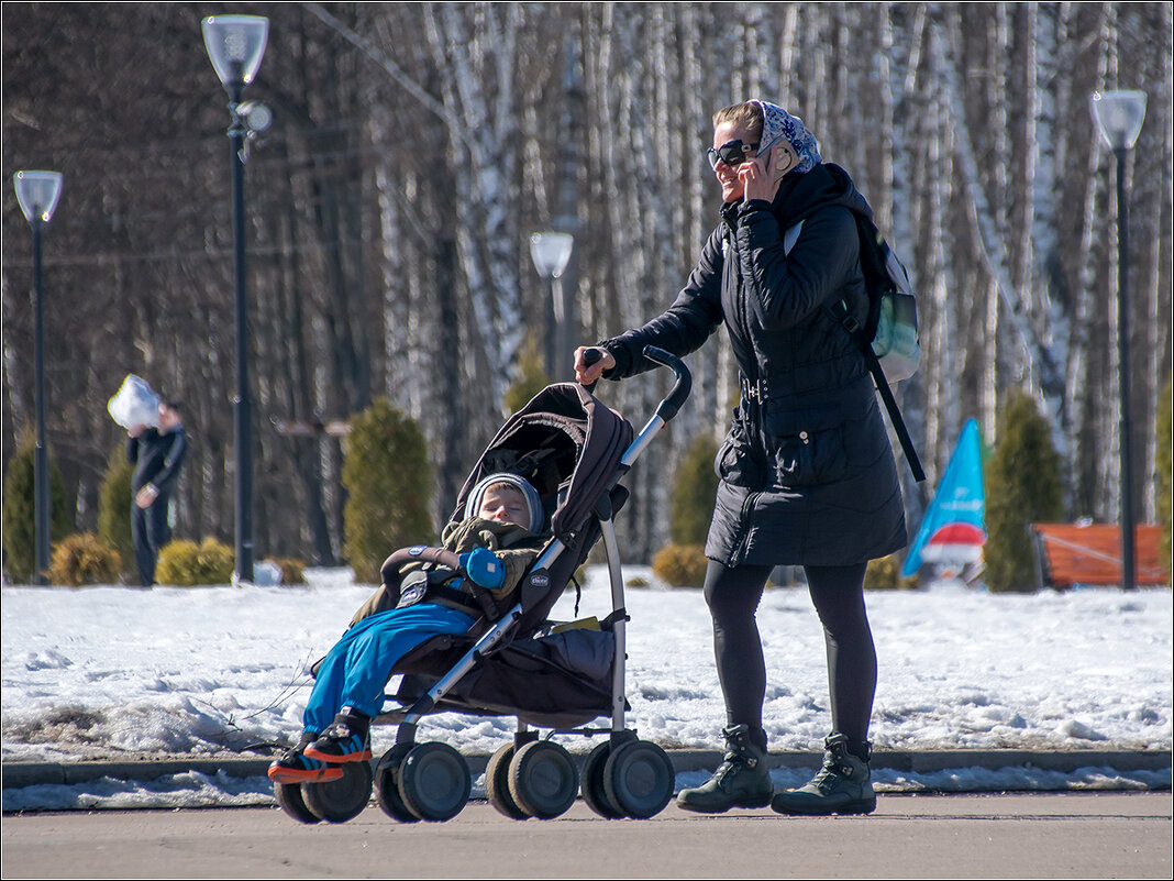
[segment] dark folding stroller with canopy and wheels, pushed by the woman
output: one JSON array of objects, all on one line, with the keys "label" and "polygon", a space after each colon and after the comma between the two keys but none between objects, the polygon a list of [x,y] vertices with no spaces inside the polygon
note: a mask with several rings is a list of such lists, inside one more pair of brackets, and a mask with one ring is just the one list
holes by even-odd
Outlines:
[{"label": "dark folding stroller with canopy and wheels, pushed by the woman", "polygon": [[[637,739],[625,724],[630,709],[625,697],[628,617],[613,517],[628,498],[620,479],[680,410],[691,377],[663,350],[648,347],[645,356],[670,368],[676,382],[639,435],[575,383],[544,389],[497,433],[465,482],[454,518],[483,477],[510,471],[539,491],[551,525],[547,544],[511,596],[497,601],[478,596],[481,617],[468,633],[432,637],[396,664],[391,678],[399,675],[400,682],[385,700],[398,708],[387,709],[385,702],[375,719],[376,725],[398,726],[396,744],[375,768],[346,762],[339,780],[275,784],[286,814],[306,823],[345,822],[366,807],[373,788],[379,807],[399,822],[454,818],[470,795],[467,762],[447,744],[416,741],[421,718],[440,712],[517,717],[513,741],[494,753],[485,771],[488,801],[506,816],[560,816],[580,788],[587,806],[607,819],[646,819],[664,808],[673,798],[673,765],[660,746]],[[602,620],[549,621],[601,537],[610,613]],[[398,590],[394,573],[407,560],[465,574],[456,554],[418,545],[387,558],[385,587]],[[609,725],[591,727],[603,717]],[[549,728],[551,735],[606,735],[606,741],[579,771],[565,747],[551,735],[540,738],[535,728]]]}]

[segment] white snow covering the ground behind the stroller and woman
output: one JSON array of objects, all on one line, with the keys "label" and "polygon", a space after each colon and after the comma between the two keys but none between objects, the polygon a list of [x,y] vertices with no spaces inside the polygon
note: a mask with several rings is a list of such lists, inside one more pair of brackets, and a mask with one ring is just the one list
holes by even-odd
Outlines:
[{"label": "white snow covering the ground behind the stroller and woman", "polygon": [[[630,724],[666,748],[720,748],[724,712],[700,591],[664,590],[647,569],[628,567],[626,577],[649,584],[626,596]],[[309,578],[305,587],[5,587],[4,761],[225,755],[295,740],[310,690],[303,668],[371,591],[346,570],[311,570]],[[608,601],[606,570],[592,570],[580,614],[602,617]],[[870,592],[868,601],[879,657],[872,738],[880,749],[1170,748],[1168,590],[996,596],[943,587]],[[555,614],[573,618],[573,605],[572,589]],[[830,717],[822,631],[805,591],[769,590],[758,620],[771,748],[816,749]],[[488,753],[513,728],[512,719],[443,714],[421,725],[420,739]],[[377,729],[376,749],[392,737],[392,728]],[[566,745],[586,749],[589,741]],[[984,773],[959,769],[957,788],[1014,785]],[[777,774],[780,785],[801,782]],[[687,776],[679,785],[693,785]],[[880,782],[943,785],[891,776]],[[1039,788],[1054,788],[1035,776]],[[264,778],[251,788],[180,778],[178,795],[108,781],[109,792],[89,785],[74,802],[271,798]],[[1112,769],[1086,769],[1068,784],[1109,787],[1115,779]],[[1163,780],[1138,785],[1168,787],[1169,772]],[[31,791],[46,788],[76,787],[6,792],[4,809],[21,809],[18,793],[35,799]]]}]

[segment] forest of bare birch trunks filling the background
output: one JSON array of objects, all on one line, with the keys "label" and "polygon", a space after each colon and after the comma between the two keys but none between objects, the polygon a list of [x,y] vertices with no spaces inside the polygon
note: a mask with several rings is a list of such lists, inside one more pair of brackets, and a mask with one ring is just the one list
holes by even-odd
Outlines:
[{"label": "forest of bare birch trunks filling the background", "polygon": [[[184,403],[177,534],[231,542],[232,240],[227,96],[201,18],[270,18],[247,97],[276,114],[245,173],[256,545],[337,561],[339,439],[373,399],[418,419],[447,513],[502,421],[548,291],[529,234],[575,236],[576,342],[642,323],[717,220],[710,114],[802,116],[853,175],[920,295],[923,368],[898,397],[929,471],[969,417],[1030,390],[1068,513],[1118,519],[1112,153],[1094,89],[1143,88],[1128,163],[1134,471],[1153,522],[1154,402],[1170,372],[1172,6],[1158,4],[16,4],[4,6],[4,462],[33,423],[32,240],[11,184],[63,173],[43,246],[48,442],[76,527],[124,435],[128,372]],[[720,335],[628,483],[625,556],[667,539],[674,466],[724,431]],[[555,379],[571,377],[565,352]],[[668,377],[600,396],[642,424]],[[908,469],[899,462],[909,480]]]}]

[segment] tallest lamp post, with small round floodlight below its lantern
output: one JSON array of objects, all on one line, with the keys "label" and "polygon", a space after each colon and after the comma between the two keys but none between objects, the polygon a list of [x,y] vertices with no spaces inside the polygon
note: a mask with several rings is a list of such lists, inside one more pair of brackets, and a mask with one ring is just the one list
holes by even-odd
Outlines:
[{"label": "tallest lamp post, with small round floodlight below its lantern", "polygon": [[249,142],[272,120],[269,109],[242,101],[265,53],[269,19],[259,15],[211,15],[203,20],[204,47],[228,90],[232,123],[232,243],[236,265],[236,574],[237,584],[252,583],[252,403],[249,395],[249,315],[244,263],[244,161]]}]

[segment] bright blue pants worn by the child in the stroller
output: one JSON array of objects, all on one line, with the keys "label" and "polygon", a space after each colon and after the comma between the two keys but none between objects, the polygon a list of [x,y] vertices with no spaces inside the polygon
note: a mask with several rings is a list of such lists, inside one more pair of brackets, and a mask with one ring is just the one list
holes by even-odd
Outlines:
[{"label": "bright blue pants worn by the child in the stroller", "polygon": [[383,709],[383,690],[396,663],[430,637],[465,633],[473,617],[456,608],[420,603],[364,618],[335,643],[318,668],[302,721],[321,732],[344,706],[375,718]]}]

